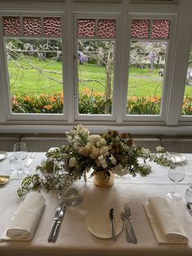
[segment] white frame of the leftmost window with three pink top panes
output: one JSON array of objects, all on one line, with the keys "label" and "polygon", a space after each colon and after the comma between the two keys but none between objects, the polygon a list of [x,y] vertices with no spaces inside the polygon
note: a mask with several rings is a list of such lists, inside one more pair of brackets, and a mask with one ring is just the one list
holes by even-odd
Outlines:
[{"label": "white frame of the leftmost window with three pink top panes", "polygon": [[[64,68],[66,66],[66,60],[67,58],[63,58],[64,56],[64,52],[66,51],[66,47],[64,47],[65,44],[65,38],[64,34],[65,34],[65,16],[63,12],[55,12],[54,14],[52,14],[50,11],[41,11],[41,12],[11,12],[11,14],[7,14],[7,12],[1,12],[0,16],[20,16],[20,23],[21,23],[21,35],[20,36],[4,36],[3,35],[3,27],[2,27],[2,23],[1,23],[1,38],[0,38],[0,46],[2,51],[0,51],[0,57],[1,60],[4,64],[2,64],[2,87],[3,87],[3,91],[2,91],[2,95],[4,98],[4,106],[5,106],[5,118],[7,121],[63,121],[63,120],[67,120],[67,113],[68,113],[68,88],[67,86],[64,86],[65,84],[65,73],[64,70],[66,70],[66,68]],[[28,17],[41,17],[41,20],[43,19],[43,17],[60,17],[61,18],[61,25],[62,25],[62,29],[61,29],[61,38],[56,38],[56,37],[41,37],[41,36],[35,36],[35,37],[26,37],[23,35],[23,27],[22,27],[22,23],[23,23],[23,17],[24,16],[28,16]],[[2,19],[2,18],[1,18]],[[7,65],[7,55],[6,55],[6,51],[5,51],[5,38],[24,38],[24,39],[31,39],[31,38],[41,38],[41,39],[61,39],[62,40],[62,51],[63,51],[63,55],[62,55],[62,71],[63,71],[63,95],[64,95],[64,100],[63,100],[63,113],[12,113],[11,112],[11,93],[10,93],[10,81],[9,81],[9,74],[8,74],[8,65]]]}]

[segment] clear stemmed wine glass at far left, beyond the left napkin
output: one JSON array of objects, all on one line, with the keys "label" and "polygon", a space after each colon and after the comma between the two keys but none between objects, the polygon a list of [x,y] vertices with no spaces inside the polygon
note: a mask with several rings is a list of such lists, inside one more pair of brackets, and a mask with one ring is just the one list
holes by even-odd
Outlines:
[{"label": "clear stemmed wine glass at far left, beyond the left napkin", "polygon": [[24,165],[23,161],[28,157],[28,150],[24,142],[19,142],[14,144],[13,155],[17,161],[20,162],[21,172],[24,174]]}]

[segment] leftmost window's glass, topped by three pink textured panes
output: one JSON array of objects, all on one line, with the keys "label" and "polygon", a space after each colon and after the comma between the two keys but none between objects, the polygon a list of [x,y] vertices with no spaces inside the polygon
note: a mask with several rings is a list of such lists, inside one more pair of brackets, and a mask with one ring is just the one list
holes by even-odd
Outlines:
[{"label": "leftmost window's glass, topped by three pink textured panes", "polygon": [[2,16],[11,113],[62,114],[62,23],[58,16]]}]

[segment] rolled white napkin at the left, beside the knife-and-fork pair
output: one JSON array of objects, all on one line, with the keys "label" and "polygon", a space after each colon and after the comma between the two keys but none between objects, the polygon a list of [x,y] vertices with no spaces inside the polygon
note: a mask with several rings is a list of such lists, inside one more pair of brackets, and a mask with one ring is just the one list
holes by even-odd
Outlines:
[{"label": "rolled white napkin at the left, beside the knife-and-fork pair", "polygon": [[30,241],[36,230],[45,205],[45,198],[39,192],[30,192],[11,218],[6,236],[2,239]]}]

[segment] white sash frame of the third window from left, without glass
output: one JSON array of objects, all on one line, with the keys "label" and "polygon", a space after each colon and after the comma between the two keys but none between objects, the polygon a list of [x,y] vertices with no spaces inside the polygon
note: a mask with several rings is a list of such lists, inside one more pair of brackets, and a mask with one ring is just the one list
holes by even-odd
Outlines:
[{"label": "white sash frame of the third window from left, without glass", "polygon": [[[166,74],[164,76],[164,85],[163,85],[163,90],[162,90],[162,95],[161,95],[161,109],[159,115],[131,115],[127,114],[126,110],[126,104],[127,104],[127,92],[129,90],[128,88],[128,83],[129,83],[129,72],[126,72],[126,70],[129,70],[129,49],[130,49],[130,42],[132,40],[131,38],[131,21],[134,19],[144,19],[144,20],[170,20],[170,30],[169,30],[169,38],[168,39],[140,39],[140,38],[135,38],[133,40],[136,41],[164,41],[168,42],[168,52],[166,56]],[[124,91],[126,90],[126,94],[124,93],[124,99],[122,100],[124,102],[123,105],[123,113],[124,113],[124,121],[160,121],[160,122],[165,122],[166,119],[166,110],[168,108],[168,97],[169,97],[169,90],[171,86],[171,79],[172,79],[172,73],[170,72],[172,70],[172,62],[173,62],[173,53],[174,53],[174,42],[175,42],[175,37],[176,37],[176,23],[177,23],[177,14],[159,14],[159,13],[142,13],[142,14],[137,14],[137,13],[130,13],[128,17],[128,26],[129,28],[127,29],[127,42],[128,42],[128,47],[127,47],[127,55],[126,55],[126,64],[125,64],[125,69],[124,72],[127,73],[126,76],[126,82],[124,85]],[[151,29],[151,28],[150,28]]]}]

